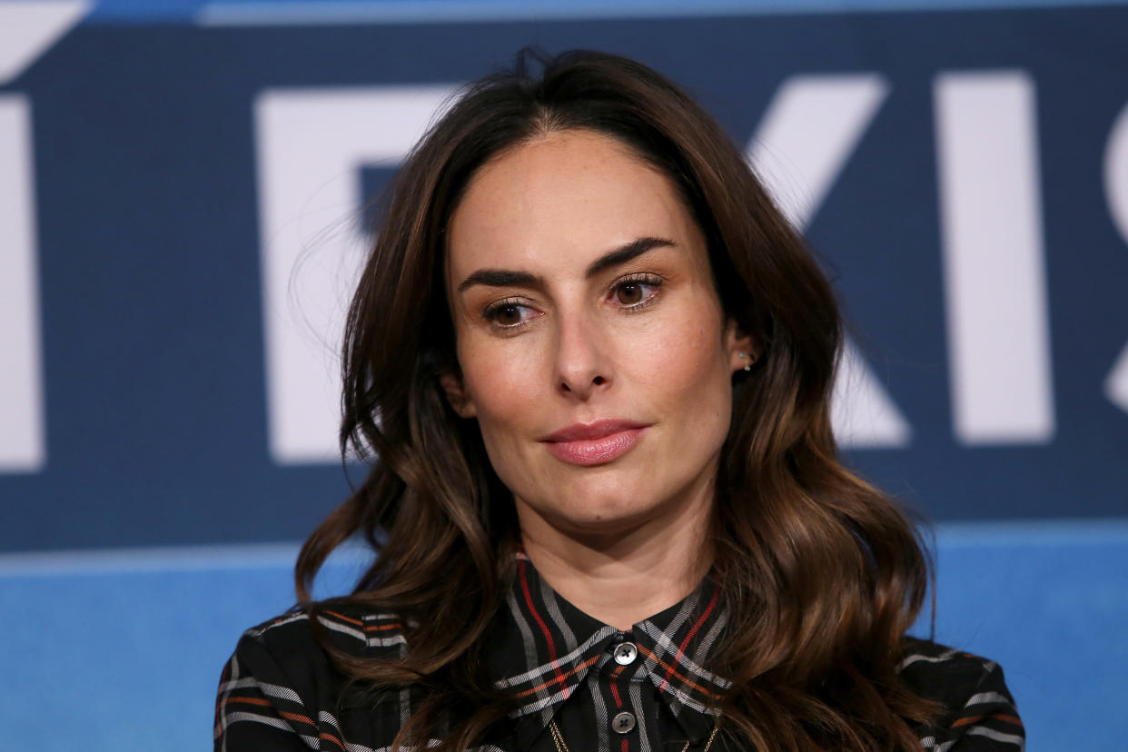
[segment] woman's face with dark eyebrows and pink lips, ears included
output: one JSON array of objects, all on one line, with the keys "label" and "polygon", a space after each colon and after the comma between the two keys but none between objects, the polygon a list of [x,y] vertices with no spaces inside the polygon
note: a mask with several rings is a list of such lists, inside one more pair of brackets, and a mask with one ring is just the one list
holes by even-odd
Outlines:
[{"label": "woman's face with dark eyebrows and pink lips, ears included", "polygon": [[451,218],[447,289],[461,379],[443,386],[522,525],[619,532],[712,504],[749,343],[662,174],[587,131],[503,152]]}]

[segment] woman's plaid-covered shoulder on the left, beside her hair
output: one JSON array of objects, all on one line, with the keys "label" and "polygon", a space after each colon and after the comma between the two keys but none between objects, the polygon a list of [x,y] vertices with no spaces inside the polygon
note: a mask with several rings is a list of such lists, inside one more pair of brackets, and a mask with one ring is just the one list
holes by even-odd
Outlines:
[{"label": "woman's plaid-covered shoulder on the left, beside her hair", "polygon": [[215,749],[319,749],[326,738],[344,741],[349,724],[337,709],[350,679],[326,646],[379,660],[398,657],[404,644],[394,614],[350,604],[323,607],[316,618],[294,608],[252,627],[220,676]]}]

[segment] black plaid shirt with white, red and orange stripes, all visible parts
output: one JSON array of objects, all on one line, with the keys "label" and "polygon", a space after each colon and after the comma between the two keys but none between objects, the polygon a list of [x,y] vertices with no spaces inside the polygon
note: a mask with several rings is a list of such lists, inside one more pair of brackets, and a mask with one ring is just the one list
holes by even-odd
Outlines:
[{"label": "black plaid shirt with white, red and orange stripes, all visible parts", "polygon": [[[519,555],[506,608],[485,655],[499,688],[520,706],[503,736],[479,750],[555,752],[555,720],[572,752],[702,750],[715,725],[712,706],[729,682],[710,673],[710,651],[725,629],[711,578],[682,602],[620,631],[559,598]],[[396,658],[406,643],[389,613],[340,610],[320,623],[350,654]],[[996,664],[910,640],[901,675],[949,707],[935,728],[922,728],[923,750],[1020,752],[1022,725]],[[386,752],[417,707],[416,690],[388,690],[353,700],[292,611],[248,630],[220,680],[217,752],[334,750]],[[711,752],[748,750],[719,735]]]}]

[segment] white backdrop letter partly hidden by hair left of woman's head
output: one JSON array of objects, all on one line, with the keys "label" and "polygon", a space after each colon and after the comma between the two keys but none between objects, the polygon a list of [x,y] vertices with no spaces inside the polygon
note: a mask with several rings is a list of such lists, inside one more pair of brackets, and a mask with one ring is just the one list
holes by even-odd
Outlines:
[{"label": "white backdrop letter partly hidden by hair left of woman's head", "polygon": [[360,168],[395,167],[450,86],[275,89],[255,101],[270,450],[336,461],[344,313],[362,262]]}]

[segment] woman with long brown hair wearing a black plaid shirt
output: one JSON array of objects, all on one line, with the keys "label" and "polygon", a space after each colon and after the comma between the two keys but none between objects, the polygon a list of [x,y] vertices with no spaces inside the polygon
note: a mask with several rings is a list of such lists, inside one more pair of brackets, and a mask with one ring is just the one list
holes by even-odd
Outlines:
[{"label": "woman with long brown hair wearing a black plaid shirt", "polygon": [[[906,637],[927,559],[836,459],[832,293],[685,94],[596,53],[470,87],[349,315],[301,607],[218,750],[1020,750],[998,667]],[[377,551],[310,602],[329,552]]]}]

